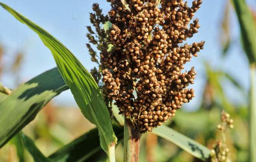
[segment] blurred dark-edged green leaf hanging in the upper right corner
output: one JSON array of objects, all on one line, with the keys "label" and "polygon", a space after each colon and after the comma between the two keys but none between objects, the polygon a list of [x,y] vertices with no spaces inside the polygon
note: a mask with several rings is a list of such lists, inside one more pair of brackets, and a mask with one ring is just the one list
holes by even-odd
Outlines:
[{"label": "blurred dark-edged green leaf hanging in the upper right corner", "polygon": [[249,62],[256,62],[256,25],[252,11],[247,6],[245,0],[232,0],[236,15],[239,20],[241,36],[244,45],[245,52],[249,59]]}]

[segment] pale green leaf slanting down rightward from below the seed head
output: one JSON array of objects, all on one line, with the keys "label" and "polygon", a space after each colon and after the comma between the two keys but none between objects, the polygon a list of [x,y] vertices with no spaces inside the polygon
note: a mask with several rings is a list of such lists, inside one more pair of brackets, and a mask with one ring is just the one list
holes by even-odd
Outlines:
[{"label": "pale green leaf slanting down rightward from below the seed head", "polygon": [[167,139],[201,160],[206,160],[210,155],[210,149],[167,126],[154,128],[152,133]]}]

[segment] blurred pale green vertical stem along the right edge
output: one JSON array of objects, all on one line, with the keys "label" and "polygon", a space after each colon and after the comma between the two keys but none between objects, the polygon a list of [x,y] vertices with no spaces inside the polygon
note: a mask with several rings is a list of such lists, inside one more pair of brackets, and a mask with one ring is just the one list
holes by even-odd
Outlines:
[{"label": "blurred pale green vertical stem along the right edge", "polygon": [[249,105],[249,161],[256,162],[256,94],[255,94],[255,64],[250,66],[251,88],[250,88],[250,105]]}]

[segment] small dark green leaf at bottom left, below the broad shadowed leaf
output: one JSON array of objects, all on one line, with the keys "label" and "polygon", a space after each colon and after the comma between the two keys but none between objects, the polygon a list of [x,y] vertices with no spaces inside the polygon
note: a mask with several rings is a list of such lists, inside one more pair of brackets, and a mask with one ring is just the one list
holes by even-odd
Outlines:
[{"label": "small dark green leaf at bottom left, below the broad shadowed leaf", "polygon": [[34,141],[25,134],[22,134],[22,140],[24,142],[25,148],[28,150],[35,162],[54,162],[53,160],[46,158],[43,153],[41,153],[41,151],[37,148]]}]

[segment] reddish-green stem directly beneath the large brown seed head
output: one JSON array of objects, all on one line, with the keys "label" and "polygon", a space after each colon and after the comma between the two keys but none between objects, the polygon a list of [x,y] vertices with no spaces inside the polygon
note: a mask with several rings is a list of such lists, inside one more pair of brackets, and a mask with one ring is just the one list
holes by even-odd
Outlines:
[{"label": "reddish-green stem directly beneath the large brown seed head", "polygon": [[128,119],[124,123],[124,162],[139,162],[140,131]]}]

